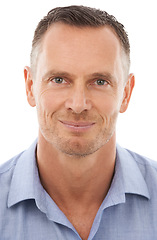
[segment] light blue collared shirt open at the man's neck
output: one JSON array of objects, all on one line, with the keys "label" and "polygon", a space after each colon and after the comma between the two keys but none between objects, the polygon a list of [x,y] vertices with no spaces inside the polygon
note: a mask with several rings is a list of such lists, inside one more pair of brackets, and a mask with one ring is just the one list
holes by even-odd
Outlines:
[{"label": "light blue collared shirt open at the man's neck", "polygon": [[[35,150],[36,142],[0,168],[0,240],[81,239],[43,189]],[[91,239],[157,239],[157,162],[117,146],[114,178]]]}]

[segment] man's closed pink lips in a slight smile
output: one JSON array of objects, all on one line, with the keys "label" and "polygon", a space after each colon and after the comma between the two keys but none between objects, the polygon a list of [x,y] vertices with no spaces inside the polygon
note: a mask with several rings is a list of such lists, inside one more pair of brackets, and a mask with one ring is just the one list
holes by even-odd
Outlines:
[{"label": "man's closed pink lips in a slight smile", "polygon": [[60,121],[65,127],[70,128],[73,131],[82,132],[86,131],[95,125],[94,122],[71,122],[71,121]]}]

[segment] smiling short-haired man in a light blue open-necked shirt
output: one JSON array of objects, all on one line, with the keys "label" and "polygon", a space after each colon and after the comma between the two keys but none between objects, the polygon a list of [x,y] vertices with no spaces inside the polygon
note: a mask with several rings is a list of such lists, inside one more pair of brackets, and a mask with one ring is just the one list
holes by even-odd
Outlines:
[{"label": "smiling short-haired man in a light blue open-necked shirt", "polygon": [[106,12],[70,6],[40,21],[24,70],[39,136],[0,169],[0,239],[157,238],[157,164],[116,144],[129,54]]}]

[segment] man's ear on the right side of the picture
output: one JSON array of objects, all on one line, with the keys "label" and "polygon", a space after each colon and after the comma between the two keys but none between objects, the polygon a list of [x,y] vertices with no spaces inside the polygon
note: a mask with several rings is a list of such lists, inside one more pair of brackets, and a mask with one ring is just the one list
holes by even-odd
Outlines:
[{"label": "man's ear on the right side of the picture", "polygon": [[123,101],[120,107],[120,113],[123,113],[127,110],[134,86],[135,86],[135,76],[134,74],[131,73],[129,74],[128,81],[124,88]]}]

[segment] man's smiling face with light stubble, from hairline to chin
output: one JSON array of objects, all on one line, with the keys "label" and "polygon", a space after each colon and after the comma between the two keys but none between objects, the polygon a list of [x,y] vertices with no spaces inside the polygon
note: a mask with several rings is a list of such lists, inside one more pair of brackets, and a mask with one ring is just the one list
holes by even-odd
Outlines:
[{"label": "man's smiling face with light stubble, from hairline to chin", "polygon": [[75,156],[100,149],[115,132],[123,110],[120,43],[108,28],[54,24],[45,34],[32,95],[41,136]]}]

